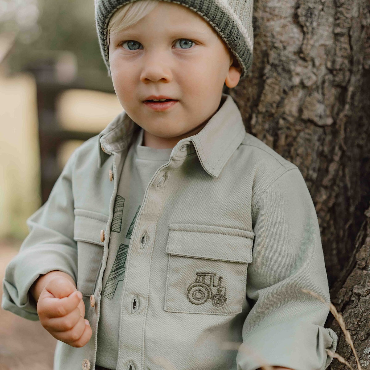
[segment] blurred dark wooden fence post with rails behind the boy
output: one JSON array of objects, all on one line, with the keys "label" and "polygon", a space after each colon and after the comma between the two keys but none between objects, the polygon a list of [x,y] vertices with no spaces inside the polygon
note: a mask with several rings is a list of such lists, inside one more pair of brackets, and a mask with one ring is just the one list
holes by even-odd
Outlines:
[{"label": "blurred dark wooden fence post with rails behind the boy", "polygon": [[60,175],[57,155],[61,145],[70,140],[85,141],[99,133],[65,129],[57,118],[58,96],[70,89],[114,93],[111,81],[102,78],[101,72],[89,70],[77,75],[76,65],[73,54],[58,52],[54,57],[36,59],[25,69],[36,81],[42,203]]}]

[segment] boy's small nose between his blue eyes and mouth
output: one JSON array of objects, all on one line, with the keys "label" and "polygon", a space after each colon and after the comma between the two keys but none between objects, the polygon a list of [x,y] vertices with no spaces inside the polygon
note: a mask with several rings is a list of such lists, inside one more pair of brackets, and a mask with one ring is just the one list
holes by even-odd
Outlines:
[{"label": "boy's small nose between his blue eyes and mouth", "polygon": [[152,50],[142,59],[142,82],[170,82],[172,80],[171,57],[165,51]]}]

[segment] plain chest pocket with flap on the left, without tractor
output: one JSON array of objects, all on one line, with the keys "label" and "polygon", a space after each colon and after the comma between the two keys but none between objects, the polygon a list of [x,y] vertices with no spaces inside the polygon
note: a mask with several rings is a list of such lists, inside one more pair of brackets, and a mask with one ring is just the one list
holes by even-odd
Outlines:
[{"label": "plain chest pocket with flap on the left, without tractor", "polygon": [[108,216],[85,209],[75,209],[74,214],[73,238],[77,241],[77,290],[90,297],[94,294],[104,252],[100,231],[106,232]]}]

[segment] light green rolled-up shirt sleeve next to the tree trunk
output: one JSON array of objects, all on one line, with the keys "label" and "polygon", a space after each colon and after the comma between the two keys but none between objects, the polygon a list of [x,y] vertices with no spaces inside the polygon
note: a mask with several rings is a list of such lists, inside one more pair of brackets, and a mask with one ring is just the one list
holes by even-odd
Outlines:
[{"label": "light green rolled-up shirt sleeve next to the tree trunk", "polygon": [[294,167],[258,196],[246,282],[252,308],[243,323],[237,369],[268,364],[324,370],[333,360],[326,349],[335,352],[337,334],[323,327],[329,308],[301,291],[330,301],[319,223],[306,182]]}]

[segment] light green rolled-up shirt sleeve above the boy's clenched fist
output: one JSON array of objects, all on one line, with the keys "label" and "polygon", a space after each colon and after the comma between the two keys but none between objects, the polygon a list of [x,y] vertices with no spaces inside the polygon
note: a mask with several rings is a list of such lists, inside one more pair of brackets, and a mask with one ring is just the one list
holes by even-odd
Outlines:
[{"label": "light green rolled-up shirt sleeve above the boy's clenched fist", "polygon": [[39,320],[29,289],[53,270],[77,280],[77,244],[73,239],[73,152],[55,182],[46,203],[27,219],[29,234],[9,262],[3,279],[1,308],[28,320]]}]

